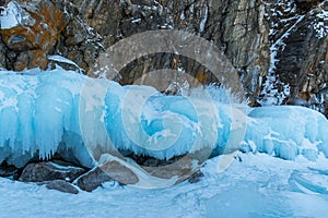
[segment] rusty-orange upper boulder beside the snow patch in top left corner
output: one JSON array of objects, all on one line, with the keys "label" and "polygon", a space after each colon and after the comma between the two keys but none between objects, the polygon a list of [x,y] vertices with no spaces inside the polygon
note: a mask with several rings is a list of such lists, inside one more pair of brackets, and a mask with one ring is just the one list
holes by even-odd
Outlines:
[{"label": "rusty-orange upper boulder beside the snow patch in top left corner", "polygon": [[42,49],[47,52],[68,24],[60,1],[38,0],[32,3],[19,0],[16,5],[22,10],[20,15],[26,19],[12,28],[1,28],[2,40],[12,50]]}]

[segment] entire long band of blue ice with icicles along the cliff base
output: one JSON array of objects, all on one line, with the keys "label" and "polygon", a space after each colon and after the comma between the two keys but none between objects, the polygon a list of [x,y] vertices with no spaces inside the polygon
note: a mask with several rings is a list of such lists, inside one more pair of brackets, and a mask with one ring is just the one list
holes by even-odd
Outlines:
[{"label": "entire long band of blue ice with icicles along the cliff base", "polygon": [[72,71],[34,71],[0,72],[0,162],[23,167],[58,153],[91,167],[113,149],[160,159],[204,148],[209,156],[241,148],[289,160],[328,157],[328,121],[311,109],[249,109],[218,101],[213,89],[165,96]]}]

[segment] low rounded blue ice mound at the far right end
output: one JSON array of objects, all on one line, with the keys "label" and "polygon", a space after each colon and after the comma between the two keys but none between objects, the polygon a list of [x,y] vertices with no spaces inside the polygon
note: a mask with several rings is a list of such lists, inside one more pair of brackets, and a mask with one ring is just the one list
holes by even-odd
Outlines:
[{"label": "low rounded blue ice mound at the far right end", "polygon": [[248,117],[245,141],[258,152],[288,160],[297,155],[315,160],[319,152],[328,157],[328,121],[321,113],[300,106],[271,106],[256,108]]}]

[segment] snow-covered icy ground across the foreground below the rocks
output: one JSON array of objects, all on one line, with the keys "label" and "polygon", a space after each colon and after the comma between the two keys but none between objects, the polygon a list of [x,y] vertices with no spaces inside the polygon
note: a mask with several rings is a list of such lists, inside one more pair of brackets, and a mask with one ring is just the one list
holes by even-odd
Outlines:
[{"label": "snow-covered icy ground across the foreground below the rocks", "polygon": [[0,179],[0,217],[326,217],[328,159],[295,161],[239,154],[219,173],[220,157],[198,183],[141,190],[107,183],[78,195]]}]

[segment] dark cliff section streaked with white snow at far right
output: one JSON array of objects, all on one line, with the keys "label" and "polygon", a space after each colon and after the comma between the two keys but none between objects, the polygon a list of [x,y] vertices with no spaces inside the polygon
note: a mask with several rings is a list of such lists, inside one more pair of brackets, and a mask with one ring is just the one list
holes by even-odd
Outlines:
[{"label": "dark cliff section streaked with white snow at far right", "polygon": [[267,3],[271,68],[259,101],[300,104],[327,111],[327,1]]}]

